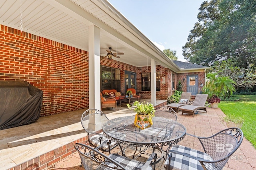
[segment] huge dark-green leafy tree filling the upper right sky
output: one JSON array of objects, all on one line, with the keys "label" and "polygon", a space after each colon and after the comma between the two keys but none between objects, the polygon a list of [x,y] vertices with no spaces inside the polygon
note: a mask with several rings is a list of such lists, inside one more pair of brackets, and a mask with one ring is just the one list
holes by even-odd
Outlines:
[{"label": "huge dark-green leafy tree filling the upper right sky", "polygon": [[204,1],[198,21],[182,47],[190,63],[212,66],[233,59],[235,66],[256,68],[256,1]]}]

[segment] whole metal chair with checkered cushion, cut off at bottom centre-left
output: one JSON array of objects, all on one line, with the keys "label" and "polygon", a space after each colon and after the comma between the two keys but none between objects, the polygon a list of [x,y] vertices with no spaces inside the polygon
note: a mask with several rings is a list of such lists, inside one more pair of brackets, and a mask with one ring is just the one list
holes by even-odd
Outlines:
[{"label": "whole metal chair with checkered cushion, cut off at bottom centre-left", "polygon": [[76,143],[74,147],[85,170],[154,170],[156,166],[155,163],[152,165],[152,160],[156,161],[155,153],[152,153],[146,162],[140,162],[119,154],[106,156],[99,152],[98,147],[94,149],[80,143]]}]

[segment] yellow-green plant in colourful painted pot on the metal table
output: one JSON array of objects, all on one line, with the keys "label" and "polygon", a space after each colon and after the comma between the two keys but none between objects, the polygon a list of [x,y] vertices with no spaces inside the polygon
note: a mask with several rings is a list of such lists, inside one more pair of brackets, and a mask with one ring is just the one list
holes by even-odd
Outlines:
[{"label": "yellow-green plant in colourful painted pot on the metal table", "polygon": [[135,111],[134,125],[140,129],[145,129],[153,124],[152,118],[155,116],[155,108],[153,104],[145,104],[145,101],[140,103],[135,101],[132,106],[136,106],[134,109],[131,108],[130,104],[126,105],[130,110]]}]

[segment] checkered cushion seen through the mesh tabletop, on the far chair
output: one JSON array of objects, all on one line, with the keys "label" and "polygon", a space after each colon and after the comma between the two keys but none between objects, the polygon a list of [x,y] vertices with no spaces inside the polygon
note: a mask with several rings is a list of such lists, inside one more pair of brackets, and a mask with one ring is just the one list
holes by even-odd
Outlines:
[{"label": "checkered cushion seen through the mesh tabletop, on the far chair", "polygon": [[165,138],[169,138],[172,136],[172,132],[174,129],[175,125],[172,125],[169,129],[162,129],[162,128],[158,128],[158,127],[148,127],[146,129],[143,129],[142,131],[140,131],[141,133],[146,133],[148,135],[152,135],[154,137],[165,137]]}]

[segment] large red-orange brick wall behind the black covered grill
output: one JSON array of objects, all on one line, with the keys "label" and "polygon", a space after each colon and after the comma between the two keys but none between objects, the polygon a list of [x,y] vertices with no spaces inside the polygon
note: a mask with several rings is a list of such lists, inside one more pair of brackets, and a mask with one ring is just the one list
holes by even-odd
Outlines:
[{"label": "large red-orange brick wall behind the black covered grill", "polygon": [[0,28],[0,80],[27,81],[43,90],[41,116],[88,107],[87,51]]}]

